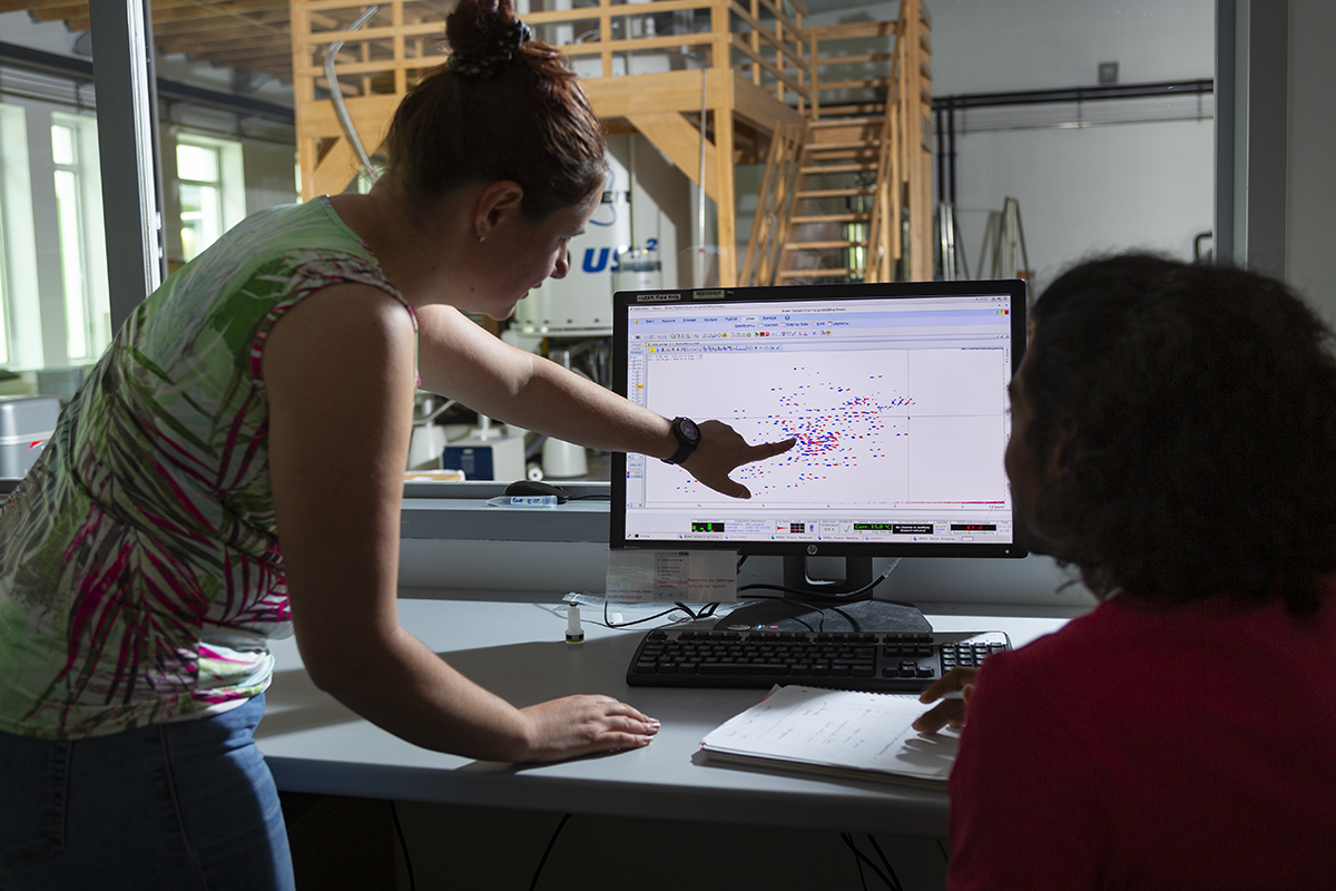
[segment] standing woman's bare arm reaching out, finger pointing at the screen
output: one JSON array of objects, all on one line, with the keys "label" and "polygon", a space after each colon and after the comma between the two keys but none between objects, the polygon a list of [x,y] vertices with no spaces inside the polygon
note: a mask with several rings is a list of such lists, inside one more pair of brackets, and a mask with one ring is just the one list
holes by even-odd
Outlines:
[{"label": "standing woman's bare arm reaching out, finger pointing at the screen", "polygon": [[[668,458],[677,452],[671,422],[573,374],[556,362],[505,343],[448,306],[418,310],[422,386],[525,430],[609,452]],[[732,427],[703,421],[701,443],[683,465],[707,486],[747,498],[728,478],[736,468],[794,446],[792,439],[748,445]]]}]

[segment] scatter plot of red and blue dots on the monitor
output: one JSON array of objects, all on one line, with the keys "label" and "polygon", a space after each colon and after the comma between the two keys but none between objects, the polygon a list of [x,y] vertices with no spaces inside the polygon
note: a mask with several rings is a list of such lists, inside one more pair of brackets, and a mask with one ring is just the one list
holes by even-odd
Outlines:
[{"label": "scatter plot of red and blue dots on the monitor", "polygon": [[[732,473],[751,506],[993,502],[1002,472],[1005,357],[997,350],[846,349],[677,354],[647,369],[648,407],[717,418],[787,453]],[[981,398],[974,382],[995,378]],[[995,442],[995,453],[979,443]],[[651,466],[651,504],[732,501],[680,468]]]}]

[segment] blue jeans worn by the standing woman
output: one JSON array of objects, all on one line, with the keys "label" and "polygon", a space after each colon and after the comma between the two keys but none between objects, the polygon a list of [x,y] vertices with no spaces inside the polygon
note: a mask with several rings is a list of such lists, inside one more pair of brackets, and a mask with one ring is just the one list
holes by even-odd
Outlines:
[{"label": "blue jeans worn by the standing woman", "polygon": [[257,696],[94,739],[0,732],[0,888],[291,890],[263,713]]}]

